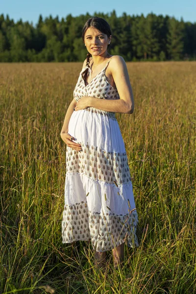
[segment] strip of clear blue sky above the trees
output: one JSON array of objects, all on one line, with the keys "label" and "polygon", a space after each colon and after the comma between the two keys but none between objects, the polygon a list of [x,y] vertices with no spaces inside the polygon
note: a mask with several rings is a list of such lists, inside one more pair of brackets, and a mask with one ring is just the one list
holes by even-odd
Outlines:
[{"label": "strip of clear blue sky above the trees", "polygon": [[23,21],[32,22],[35,25],[40,14],[48,17],[57,15],[61,19],[68,14],[77,16],[89,12],[109,13],[116,10],[117,16],[123,12],[129,15],[145,16],[153,12],[156,15],[174,16],[177,20],[183,17],[185,22],[196,22],[196,0],[0,0],[0,14],[9,15],[14,21],[22,18]]}]

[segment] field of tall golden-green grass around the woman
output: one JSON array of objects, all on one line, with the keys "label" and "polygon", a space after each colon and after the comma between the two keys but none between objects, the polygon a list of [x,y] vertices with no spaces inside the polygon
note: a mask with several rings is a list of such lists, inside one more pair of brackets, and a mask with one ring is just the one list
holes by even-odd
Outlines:
[{"label": "field of tall golden-green grass around the woman", "polygon": [[0,64],[0,293],[196,293],[196,62],[127,63],[135,110],[116,117],[140,246],[107,275],[91,244],[61,240],[60,131],[81,66]]}]

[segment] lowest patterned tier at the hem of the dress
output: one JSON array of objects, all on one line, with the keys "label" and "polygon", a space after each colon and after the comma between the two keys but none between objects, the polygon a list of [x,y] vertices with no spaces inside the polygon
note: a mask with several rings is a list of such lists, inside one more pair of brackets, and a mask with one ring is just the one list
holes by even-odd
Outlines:
[{"label": "lowest patterned tier at the hem of the dress", "polygon": [[93,249],[99,252],[111,250],[123,242],[129,247],[138,247],[136,227],[138,217],[136,209],[125,215],[110,211],[93,213],[88,210],[87,202],[66,205],[63,210],[62,241],[89,241]]}]

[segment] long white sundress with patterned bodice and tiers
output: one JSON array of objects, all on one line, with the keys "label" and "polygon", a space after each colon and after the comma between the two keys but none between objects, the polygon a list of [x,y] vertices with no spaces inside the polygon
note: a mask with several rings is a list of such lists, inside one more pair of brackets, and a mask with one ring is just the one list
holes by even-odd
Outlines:
[{"label": "long white sundress with patterned bodice and tiers", "polygon": [[[111,58],[110,58],[111,59]],[[106,66],[88,85],[83,68],[73,91],[76,101],[83,96],[120,99],[106,80]],[[99,252],[127,242],[139,246],[138,216],[126,150],[115,113],[94,107],[73,111],[68,133],[82,151],[66,149],[65,206],[62,243],[88,241]]]}]

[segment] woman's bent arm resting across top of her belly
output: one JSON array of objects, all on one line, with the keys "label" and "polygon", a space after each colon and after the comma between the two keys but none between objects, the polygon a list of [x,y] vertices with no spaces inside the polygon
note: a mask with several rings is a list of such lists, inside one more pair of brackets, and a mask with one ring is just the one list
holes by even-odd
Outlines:
[{"label": "woman's bent arm resting across top of her belly", "polygon": [[[116,84],[120,99],[107,100],[94,97],[82,97],[77,102],[76,110],[86,107],[94,107],[110,112],[132,114],[134,111],[133,92],[129,80],[126,63],[123,57],[112,57],[108,66],[108,72],[112,75]],[[83,99],[84,98],[84,99]]]}]

